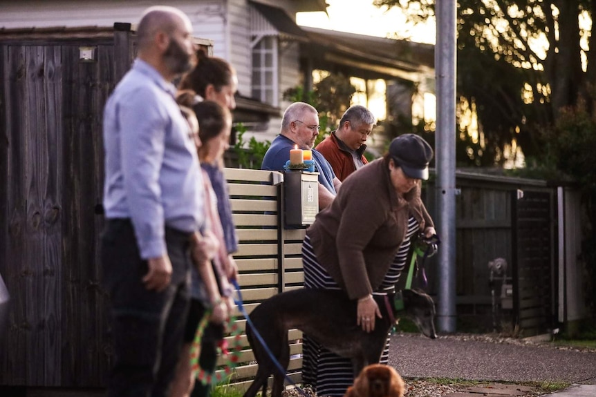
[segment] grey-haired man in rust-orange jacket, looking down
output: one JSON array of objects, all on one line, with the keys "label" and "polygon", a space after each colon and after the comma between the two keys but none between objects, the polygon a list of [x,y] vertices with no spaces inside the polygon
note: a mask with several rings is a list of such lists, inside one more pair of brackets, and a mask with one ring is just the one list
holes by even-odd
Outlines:
[{"label": "grey-haired man in rust-orange jacket, looking down", "polygon": [[317,151],[331,164],[340,181],[344,182],[348,175],[368,164],[364,151],[374,125],[375,116],[369,109],[351,106],[339,121],[337,130],[317,145]]}]

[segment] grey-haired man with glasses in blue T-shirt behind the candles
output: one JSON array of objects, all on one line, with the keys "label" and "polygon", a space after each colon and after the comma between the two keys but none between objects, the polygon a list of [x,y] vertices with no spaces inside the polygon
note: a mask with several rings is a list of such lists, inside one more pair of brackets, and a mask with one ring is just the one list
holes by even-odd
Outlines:
[{"label": "grey-haired man with glasses in blue T-shirt behind the candles", "polygon": [[335,177],[333,168],[325,157],[313,149],[319,128],[319,112],[313,106],[304,102],[295,102],[288,106],[281,119],[281,132],[265,153],[261,169],[283,171],[283,166],[290,159],[290,149],[294,146],[312,150],[316,171],[319,173],[319,209],[324,209],[331,204],[342,182]]}]

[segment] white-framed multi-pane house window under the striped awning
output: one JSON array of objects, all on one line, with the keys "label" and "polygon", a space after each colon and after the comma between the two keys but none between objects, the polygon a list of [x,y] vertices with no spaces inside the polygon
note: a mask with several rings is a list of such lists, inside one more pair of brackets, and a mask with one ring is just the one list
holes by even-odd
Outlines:
[{"label": "white-framed multi-pane house window under the striped awning", "polygon": [[252,48],[252,97],[278,106],[277,37],[263,36]]}]

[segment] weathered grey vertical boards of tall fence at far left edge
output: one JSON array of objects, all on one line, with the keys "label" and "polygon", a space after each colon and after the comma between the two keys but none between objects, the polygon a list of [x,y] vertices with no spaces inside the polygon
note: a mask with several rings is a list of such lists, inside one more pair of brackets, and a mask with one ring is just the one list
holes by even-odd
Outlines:
[{"label": "weathered grey vertical boards of tall fence at far left edge", "polygon": [[59,46],[10,46],[3,53],[8,64],[3,81],[11,97],[6,133],[17,146],[7,153],[10,221],[2,270],[9,290],[19,291],[11,300],[3,363],[17,382],[59,384],[62,118],[56,98],[62,94],[62,57]]}]

